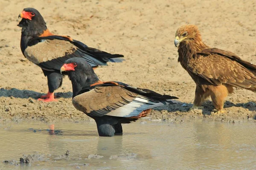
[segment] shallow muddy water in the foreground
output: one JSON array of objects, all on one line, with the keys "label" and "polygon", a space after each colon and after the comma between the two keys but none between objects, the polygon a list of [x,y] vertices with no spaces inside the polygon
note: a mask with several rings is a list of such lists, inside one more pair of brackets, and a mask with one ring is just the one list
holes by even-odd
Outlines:
[{"label": "shallow muddy water in the foreground", "polygon": [[[0,125],[0,169],[256,169],[255,129],[253,122],[142,119],[123,125],[123,136],[99,137],[94,122],[56,123],[54,130],[41,122],[12,122]],[[20,164],[23,154],[40,156]]]}]

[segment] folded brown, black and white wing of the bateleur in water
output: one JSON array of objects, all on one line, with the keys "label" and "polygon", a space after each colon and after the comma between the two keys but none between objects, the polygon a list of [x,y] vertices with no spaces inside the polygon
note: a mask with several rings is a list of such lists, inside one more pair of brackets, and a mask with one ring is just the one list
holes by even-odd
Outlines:
[{"label": "folded brown, black and white wing of the bateleur in water", "polygon": [[147,109],[167,103],[172,101],[161,102],[151,99],[119,85],[97,85],[91,91],[73,98],[76,109],[93,116],[138,116]]}]

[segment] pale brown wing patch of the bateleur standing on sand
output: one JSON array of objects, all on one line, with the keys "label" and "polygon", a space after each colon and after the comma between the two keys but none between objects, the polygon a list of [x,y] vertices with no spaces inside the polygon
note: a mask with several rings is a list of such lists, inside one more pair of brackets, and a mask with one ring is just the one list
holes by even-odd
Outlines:
[{"label": "pale brown wing patch of the bateleur standing on sand", "polygon": [[77,47],[68,41],[63,40],[44,40],[36,45],[29,46],[24,51],[24,55],[29,61],[35,64],[47,62],[52,59],[64,57],[72,54],[77,50]]}]

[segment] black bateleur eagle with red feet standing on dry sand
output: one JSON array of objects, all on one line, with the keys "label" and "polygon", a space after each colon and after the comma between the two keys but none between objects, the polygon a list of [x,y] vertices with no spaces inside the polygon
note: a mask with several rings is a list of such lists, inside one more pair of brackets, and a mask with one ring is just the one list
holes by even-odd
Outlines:
[{"label": "black bateleur eagle with red feet standing on dry sand", "polygon": [[54,101],[54,91],[62,84],[60,68],[65,60],[81,57],[94,68],[107,65],[107,62],[122,62],[120,54],[109,54],[73,40],[69,36],[52,34],[44,22],[44,18],[34,8],[25,8],[19,17],[22,20],[17,26],[22,27],[20,48],[29,61],[43,70],[48,81],[48,94],[41,96],[45,102]]}]

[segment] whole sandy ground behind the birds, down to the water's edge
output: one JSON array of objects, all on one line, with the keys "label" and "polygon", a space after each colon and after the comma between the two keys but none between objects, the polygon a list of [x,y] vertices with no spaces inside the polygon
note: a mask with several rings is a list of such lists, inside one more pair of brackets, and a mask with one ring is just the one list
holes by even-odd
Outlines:
[{"label": "whole sandy ground behind the birds, down to the water's edge", "polygon": [[[38,102],[48,91],[41,69],[20,51],[23,8],[38,9],[50,31],[69,35],[90,47],[125,55],[125,62],[96,69],[102,81],[118,80],[179,97],[181,104],[152,111],[151,119],[182,122],[186,118],[254,121],[256,95],[236,89],[227,98],[226,114],[189,111],[195,83],[177,62],[174,45],[179,26],[195,24],[207,45],[233,51],[256,63],[256,2],[251,0],[1,0],[0,1],[0,121],[38,119],[54,122],[86,120],[71,102],[68,78],[56,92],[58,102]],[[162,110],[163,109],[163,110]]]}]

